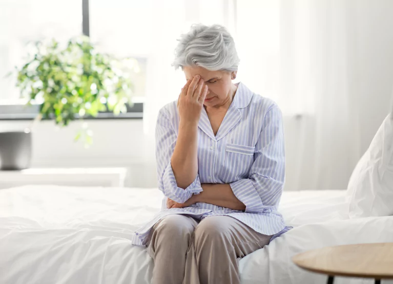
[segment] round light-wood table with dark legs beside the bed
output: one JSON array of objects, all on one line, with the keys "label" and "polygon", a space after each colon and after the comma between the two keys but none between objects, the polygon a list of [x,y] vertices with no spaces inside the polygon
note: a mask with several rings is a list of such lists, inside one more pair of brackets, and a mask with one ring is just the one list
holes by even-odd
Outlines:
[{"label": "round light-wood table with dark legs beside the bed", "polygon": [[393,279],[393,243],[359,244],[326,247],[300,253],[292,258],[294,263],[308,271],[334,276]]}]

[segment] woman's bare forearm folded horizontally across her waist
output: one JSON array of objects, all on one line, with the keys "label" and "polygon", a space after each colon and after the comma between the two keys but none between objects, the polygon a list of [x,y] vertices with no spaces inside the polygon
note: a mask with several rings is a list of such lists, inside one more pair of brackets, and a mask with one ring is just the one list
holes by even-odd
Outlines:
[{"label": "woman's bare forearm folded horizontally across her waist", "polygon": [[245,210],[229,184],[202,184],[203,191],[194,195],[196,202],[209,203],[234,210]]}]

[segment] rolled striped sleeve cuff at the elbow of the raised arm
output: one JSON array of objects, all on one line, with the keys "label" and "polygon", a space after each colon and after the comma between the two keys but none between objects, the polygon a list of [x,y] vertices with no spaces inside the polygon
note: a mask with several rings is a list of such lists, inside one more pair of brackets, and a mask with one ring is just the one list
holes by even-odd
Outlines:
[{"label": "rolled striped sleeve cuff at the elbow of the raised arm", "polygon": [[177,186],[175,175],[171,162],[169,162],[162,177],[164,195],[178,203],[184,203],[191,198],[193,194],[198,194],[202,191],[202,187],[197,174],[195,180],[187,188],[183,189]]}]

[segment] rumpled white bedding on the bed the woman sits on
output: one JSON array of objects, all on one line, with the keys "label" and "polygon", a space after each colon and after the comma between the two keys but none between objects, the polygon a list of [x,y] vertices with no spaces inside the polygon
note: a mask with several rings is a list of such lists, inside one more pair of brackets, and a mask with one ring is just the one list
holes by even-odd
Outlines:
[{"label": "rumpled white bedding on the bed the woman sits on", "polygon": [[[149,283],[153,261],[130,239],[161,200],[157,189],[0,190],[0,283]],[[295,228],[240,260],[242,283],[324,283],[325,276],[297,268],[291,257],[325,246],[393,242],[393,216],[349,220],[345,191],[284,192],[280,212]],[[362,282],[372,281],[335,283]]]}]

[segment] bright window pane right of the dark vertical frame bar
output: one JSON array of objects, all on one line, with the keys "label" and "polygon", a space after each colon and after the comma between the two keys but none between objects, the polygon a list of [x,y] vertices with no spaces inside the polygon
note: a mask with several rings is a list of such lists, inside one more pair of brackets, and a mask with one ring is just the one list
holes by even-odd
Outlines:
[{"label": "bright window pane right of the dark vertical frame bar", "polygon": [[[100,51],[137,59],[130,74],[137,101],[146,93],[147,56],[152,41],[151,0],[90,0],[90,37]],[[137,71],[135,70],[135,71]]]}]

